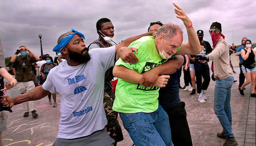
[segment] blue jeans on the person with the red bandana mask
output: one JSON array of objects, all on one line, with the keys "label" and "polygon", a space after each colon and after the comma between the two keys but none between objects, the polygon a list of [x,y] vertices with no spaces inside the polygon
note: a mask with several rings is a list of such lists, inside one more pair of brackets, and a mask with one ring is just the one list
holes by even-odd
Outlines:
[{"label": "blue jeans on the person with the red bandana mask", "polygon": [[231,87],[234,77],[230,76],[226,79],[216,80],[214,89],[214,112],[220,120],[225,136],[234,137],[232,132],[232,114],[230,107]]}]

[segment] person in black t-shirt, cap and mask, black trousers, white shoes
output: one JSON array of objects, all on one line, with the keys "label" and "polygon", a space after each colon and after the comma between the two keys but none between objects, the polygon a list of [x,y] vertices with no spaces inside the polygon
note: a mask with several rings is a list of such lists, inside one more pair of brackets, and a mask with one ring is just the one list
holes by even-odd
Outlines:
[{"label": "person in black t-shirt, cap and mask, black trousers, white shoes", "polygon": [[[199,55],[207,55],[212,51],[212,47],[209,42],[203,40],[204,31],[197,30],[197,36],[201,45],[201,52]],[[204,91],[206,90],[210,84],[210,71],[209,66],[205,60],[196,60],[194,62],[195,72],[196,72],[196,87],[197,93],[199,94],[198,101],[201,103],[205,103],[206,96],[204,95]],[[202,82],[202,77],[204,81]]]}]

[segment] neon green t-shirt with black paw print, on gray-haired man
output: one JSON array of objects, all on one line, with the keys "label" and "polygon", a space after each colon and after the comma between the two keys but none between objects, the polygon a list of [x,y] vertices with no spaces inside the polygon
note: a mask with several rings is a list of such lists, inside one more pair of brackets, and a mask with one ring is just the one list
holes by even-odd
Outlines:
[{"label": "neon green t-shirt with black paw print, on gray-haired man", "polygon": [[[135,70],[143,74],[150,69],[163,64],[167,60],[162,59],[156,50],[155,39],[152,36],[144,36],[132,42],[129,47],[138,49],[135,54],[139,62],[130,65],[119,58],[115,66],[123,65],[128,69]],[[177,51],[180,47],[177,49]],[[115,92],[113,110],[124,113],[154,112],[158,108],[158,91],[160,87],[144,87],[140,84],[132,84],[122,79],[118,79]]]}]

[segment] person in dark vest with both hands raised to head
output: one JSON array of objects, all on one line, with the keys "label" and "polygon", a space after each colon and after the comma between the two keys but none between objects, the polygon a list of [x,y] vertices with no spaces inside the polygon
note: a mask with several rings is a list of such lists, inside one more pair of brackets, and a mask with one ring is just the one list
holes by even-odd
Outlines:
[{"label": "person in dark vest with both hands raised to head", "polygon": [[[29,52],[32,54],[27,54]],[[20,56],[17,56],[18,54]],[[21,94],[35,88],[33,80],[35,80],[34,72],[32,71],[32,63],[39,60],[39,57],[30,51],[26,46],[20,46],[16,51],[14,56],[12,56],[10,62],[15,63],[16,66],[16,75],[15,79],[17,80],[17,86]],[[32,117],[37,117],[36,113],[36,103],[35,101],[28,101],[23,103],[23,108],[25,110],[24,117],[29,116],[29,112],[32,113]]]}]

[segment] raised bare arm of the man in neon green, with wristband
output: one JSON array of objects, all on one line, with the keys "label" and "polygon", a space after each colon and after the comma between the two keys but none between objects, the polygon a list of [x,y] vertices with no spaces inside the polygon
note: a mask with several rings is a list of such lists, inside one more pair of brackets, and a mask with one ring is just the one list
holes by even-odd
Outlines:
[{"label": "raised bare arm of the man in neon green, with wristband", "polygon": [[184,25],[186,26],[187,35],[189,37],[189,42],[184,42],[181,49],[176,53],[176,55],[198,54],[201,51],[201,47],[192,22],[180,6],[176,5],[175,3],[174,6],[177,8],[175,9],[175,13],[178,15],[176,17],[183,21]]}]

